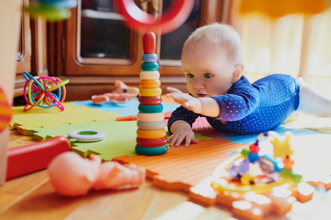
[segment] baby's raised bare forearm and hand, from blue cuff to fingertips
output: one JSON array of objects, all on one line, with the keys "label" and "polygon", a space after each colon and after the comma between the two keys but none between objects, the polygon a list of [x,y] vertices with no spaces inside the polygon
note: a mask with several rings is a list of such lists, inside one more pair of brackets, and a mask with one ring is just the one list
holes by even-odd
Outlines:
[{"label": "baby's raised bare forearm and hand, from blue cuff to fingertips", "polygon": [[167,87],[167,91],[170,92],[166,94],[167,97],[172,97],[175,102],[194,113],[210,117],[218,117],[219,115],[218,104],[213,98],[195,98],[173,87]]}]

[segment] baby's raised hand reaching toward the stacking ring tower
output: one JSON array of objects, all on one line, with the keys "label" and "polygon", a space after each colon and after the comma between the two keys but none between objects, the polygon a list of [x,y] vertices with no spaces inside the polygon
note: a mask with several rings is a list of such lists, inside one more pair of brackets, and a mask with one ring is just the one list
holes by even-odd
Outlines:
[{"label": "baby's raised hand reaching toward the stacking ring tower", "polygon": [[173,87],[167,87],[166,89],[170,92],[166,94],[167,97],[172,97],[175,102],[179,103],[184,108],[193,111],[194,113],[201,113],[202,104],[198,98],[195,98],[187,93],[183,93],[179,89]]}]

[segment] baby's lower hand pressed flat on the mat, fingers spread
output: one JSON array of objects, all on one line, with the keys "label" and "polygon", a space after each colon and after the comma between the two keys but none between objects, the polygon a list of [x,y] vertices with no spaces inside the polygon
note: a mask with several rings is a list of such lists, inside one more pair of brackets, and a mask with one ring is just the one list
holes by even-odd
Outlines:
[{"label": "baby's lower hand pressed flat on the mat, fingers spread", "polygon": [[170,146],[178,147],[185,140],[185,147],[188,147],[190,143],[198,143],[194,137],[194,132],[190,127],[179,126],[176,131],[167,138],[167,141],[171,141]]}]

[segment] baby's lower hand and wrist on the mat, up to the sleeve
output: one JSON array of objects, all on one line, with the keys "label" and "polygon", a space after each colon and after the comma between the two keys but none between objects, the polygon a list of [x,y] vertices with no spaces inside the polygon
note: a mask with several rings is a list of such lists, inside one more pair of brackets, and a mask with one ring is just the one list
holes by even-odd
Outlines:
[{"label": "baby's lower hand and wrist on the mat, up to the sleeve", "polygon": [[190,143],[198,143],[194,137],[194,132],[191,129],[191,126],[182,120],[175,121],[170,126],[170,135],[167,138],[167,141],[171,141],[170,146],[178,147],[184,140],[185,146],[187,147]]}]

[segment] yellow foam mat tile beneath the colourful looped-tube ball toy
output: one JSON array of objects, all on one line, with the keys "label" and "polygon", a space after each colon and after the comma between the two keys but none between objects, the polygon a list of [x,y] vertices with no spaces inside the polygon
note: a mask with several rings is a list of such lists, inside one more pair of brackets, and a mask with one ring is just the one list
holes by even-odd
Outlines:
[{"label": "yellow foam mat tile beneath the colourful looped-tube ball toy", "polygon": [[23,135],[32,135],[31,128],[49,128],[61,124],[81,124],[85,121],[105,121],[110,118],[119,117],[120,114],[106,112],[104,110],[92,109],[88,106],[79,106],[71,102],[63,103],[65,110],[57,107],[39,108],[35,107],[24,112],[24,106],[14,107],[14,115],[10,121],[11,129]]}]

